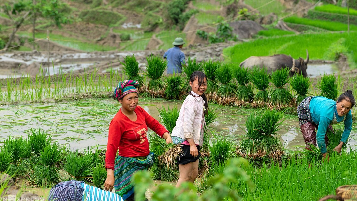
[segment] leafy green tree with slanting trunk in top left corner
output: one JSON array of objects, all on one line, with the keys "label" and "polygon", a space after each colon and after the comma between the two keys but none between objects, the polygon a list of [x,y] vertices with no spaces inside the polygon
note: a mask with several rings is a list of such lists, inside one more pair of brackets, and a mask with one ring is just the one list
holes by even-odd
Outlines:
[{"label": "leafy green tree with slanting trunk in top left corner", "polygon": [[60,27],[61,24],[70,22],[68,17],[66,17],[62,12],[59,12],[59,10],[63,9],[64,6],[65,4],[61,3],[59,0],[18,0],[5,2],[3,10],[15,24],[5,49],[9,48],[12,40],[14,40],[17,30],[19,30],[20,26],[26,20],[31,18],[33,19],[34,39],[37,17],[51,19],[58,27]]}]

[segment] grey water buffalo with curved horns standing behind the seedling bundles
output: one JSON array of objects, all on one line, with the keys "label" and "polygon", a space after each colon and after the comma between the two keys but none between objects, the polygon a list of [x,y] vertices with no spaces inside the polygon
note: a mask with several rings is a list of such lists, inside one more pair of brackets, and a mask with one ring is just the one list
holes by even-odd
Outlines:
[{"label": "grey water buffalo with curved horns standing behind the seedling bundles", "polygon": [[248,59],[241,62],[240,66],[252,68],[252,66],[265,66],[267,72],[281,69],[282,67],[288,67],[290,70],[290,76],[294,74],[302,74],[307,76],[306,69],[309,62],[309,52],[306,50],[306,60],[303,58],[293,59],[291,56],[285,54],[276,54],[273,56],[250,56]]}]

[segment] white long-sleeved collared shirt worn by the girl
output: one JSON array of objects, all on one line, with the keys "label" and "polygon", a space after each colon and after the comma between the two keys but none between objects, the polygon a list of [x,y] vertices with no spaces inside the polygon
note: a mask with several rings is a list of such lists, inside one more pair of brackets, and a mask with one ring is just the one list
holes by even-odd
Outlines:
[{"label": "white long-sleeved collared shirt worn by the girl", "polygon": [[[171,136],[193,138],[195,144],[202,146],[203,143],[203,126],[205,125],[205,116],[203,115],[205,101],[201,96],[191,91],[183,101],[181,106],[180,115],[176,121],[176,126],[172,130]],[[195,97],[198,96],[198,97]]]}]

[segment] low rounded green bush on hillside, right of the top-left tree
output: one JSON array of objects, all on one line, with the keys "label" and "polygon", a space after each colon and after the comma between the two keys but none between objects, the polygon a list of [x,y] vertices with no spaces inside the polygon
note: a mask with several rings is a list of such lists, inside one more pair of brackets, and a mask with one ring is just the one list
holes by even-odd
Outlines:
[{"label": "low rounded green bush on hillside, right of the top-left tree", "polygon": [[109,26],[121,21],[124,16],[117,12],[92,9],[81,11],[79,13],[79,18],[85,22]]}]

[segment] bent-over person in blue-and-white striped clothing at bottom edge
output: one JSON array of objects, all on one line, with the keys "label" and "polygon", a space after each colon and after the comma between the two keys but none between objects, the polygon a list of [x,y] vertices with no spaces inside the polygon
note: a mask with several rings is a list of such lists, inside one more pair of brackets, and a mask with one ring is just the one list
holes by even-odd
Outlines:
[{"label": "bent-over person in blue-and-white striped clothing at bottom edge", "polygon": [[84,181],[62,181],[53,186],[49,201],[124,201],[112,192],[87,185]]}]

